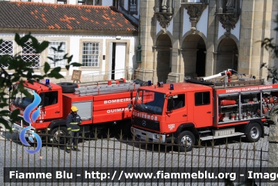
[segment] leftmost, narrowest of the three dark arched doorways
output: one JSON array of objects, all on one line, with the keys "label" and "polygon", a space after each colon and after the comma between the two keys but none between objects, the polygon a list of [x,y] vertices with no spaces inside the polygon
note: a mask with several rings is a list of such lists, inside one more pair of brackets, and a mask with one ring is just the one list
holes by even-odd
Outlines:
[{"label": "leftmost, narrowest of the three dark arched doorways", "polygon": [[166,82],[171,72],[172,42],[167,34],[161,34],[156,40],[156,75],[158,82]]}]

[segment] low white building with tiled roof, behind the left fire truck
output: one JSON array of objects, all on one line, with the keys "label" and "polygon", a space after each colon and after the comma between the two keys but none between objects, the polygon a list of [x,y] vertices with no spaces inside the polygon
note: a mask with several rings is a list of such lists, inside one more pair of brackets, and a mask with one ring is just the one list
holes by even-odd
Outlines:
[{"label": "low white building with tiled roof, behind the left fire truck", "polygon": [[[109,2],[102,1],[102,3],[110,5]],[[6,8],[7,14],[10,4],[14,6],[15,2],[2,3],[2,8]],[[81,70],[81,82],[133,78],[133,68],[136,65],[135,51],[138,45],[138,25],[116,8],[58,5],[52,2],[19,2],[17,7],[22,8],[22,15],[19,12],[16,14],[25,18],[26,22],[21,23],[18,20],[18,23],[15,22],[13,23],[15,25],[10,26],[8,22],[13,22],[15,18],[11,16],[10,20],[7,20],[7,24],[0,26],[2,27],[0,38],[3,39],[0,45],[0,55],[22,53],[26,56],[27,61],[35,61],[31,68],[37,75],[44,73],[42,67],[47,61],[51,64],[51,68],[61,67],[60,74],[67,80],[71,79],[73,70]],[[13,11],[13,7],[10,9]],[[52,15],[47,14],[50,10],[57,10],[61,13],[56,12],[53,15],[56,17],[51,17]],[[75,10],[78,10],[78,13],[70,13]],[[24,17],[26,16],[25,11],[30,11],[30,15],[27,13],[27,17]],[[28,22],[31,22],[32,25],[29,26]],[[18,47],[14,41],[15,33],[24,36],[29,32],[39,42],[49,41],[49,48],[42,54],[34,54],[32,49]],[[54,52],[51,49],[51,47],[59,45],[62,46],[61,49],[64,52]],[[81,63],[82,66],[71,67],[67,71],[65,69],[67,61],[53,63],[47,58],[50,56],[52,59],[60,59],[65,54],[72,55],[72,62]]]}]

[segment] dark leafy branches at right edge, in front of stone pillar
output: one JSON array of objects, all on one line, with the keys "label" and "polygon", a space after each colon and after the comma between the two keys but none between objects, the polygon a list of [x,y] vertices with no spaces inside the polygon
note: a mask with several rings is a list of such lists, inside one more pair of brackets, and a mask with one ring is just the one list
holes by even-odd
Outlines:
[{"label": "dark leafy branches at right edge, in front of stone pillar", "polygon": [[[278,23],[278,15],[276,15],[276,19],[274,20],[274,22]],[[275,31],[278,31],[278,27],[275,28]],[[274,38],[265,38],[261,42],[261,47],[265,47],[265,49],[274,54],[273,57],[278,58],[278,45],[273,43],[273,39]],[[278,80],[277,68],[270,68],[268,65],[266,65],[266,63],[263,63],[261,65],[261,68],[267,68],[269,72],[268,79],[274,78]]]}]

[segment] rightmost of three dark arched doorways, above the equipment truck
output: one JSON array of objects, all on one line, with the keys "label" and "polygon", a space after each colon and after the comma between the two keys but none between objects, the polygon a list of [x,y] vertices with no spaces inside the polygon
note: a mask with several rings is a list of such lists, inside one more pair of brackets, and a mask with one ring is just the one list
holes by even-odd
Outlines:
[{"label": "rightmost of three dark arched doorways, above the equipment truck", "polygon": [[238,71],[238,47],[231,38],[224,38],[218,45],[215,73],[226,69]]}]

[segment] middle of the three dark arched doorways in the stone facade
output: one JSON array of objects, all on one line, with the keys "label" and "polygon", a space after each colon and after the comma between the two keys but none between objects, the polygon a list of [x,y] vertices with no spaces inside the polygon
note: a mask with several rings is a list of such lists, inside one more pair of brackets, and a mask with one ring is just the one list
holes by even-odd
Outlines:
[{"label": "middle of the three dark arched doorways in the stone facade", "polygon": [[190,34],[182,43],[181,72],[185,77],[203,77],[206,70],[206,44],[197,34]]}]

